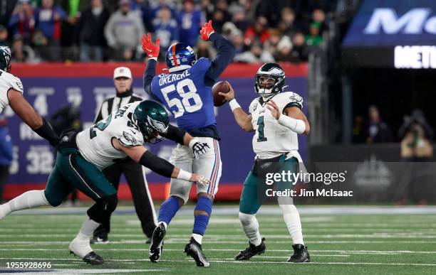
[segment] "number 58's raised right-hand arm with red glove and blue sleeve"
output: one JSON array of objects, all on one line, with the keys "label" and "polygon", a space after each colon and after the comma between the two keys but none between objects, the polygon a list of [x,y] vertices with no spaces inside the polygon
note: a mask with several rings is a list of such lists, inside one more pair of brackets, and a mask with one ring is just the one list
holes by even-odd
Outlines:
[{"label": "number 58's raised right-hand arm with red glove and blue sleeve", "polygon": [[218,33],[215,33],[211,20],[204,23],[200,30],[200,38],[204,41],[212,41],[215,48],[217,48],[217,56],[212,60],[212,64],[204,75],[204,83],[208,86],[212,86],[214,82],[217,81],[219,75],[221,75],[229,63],[232,62],[235,50],[232,43]]}]

